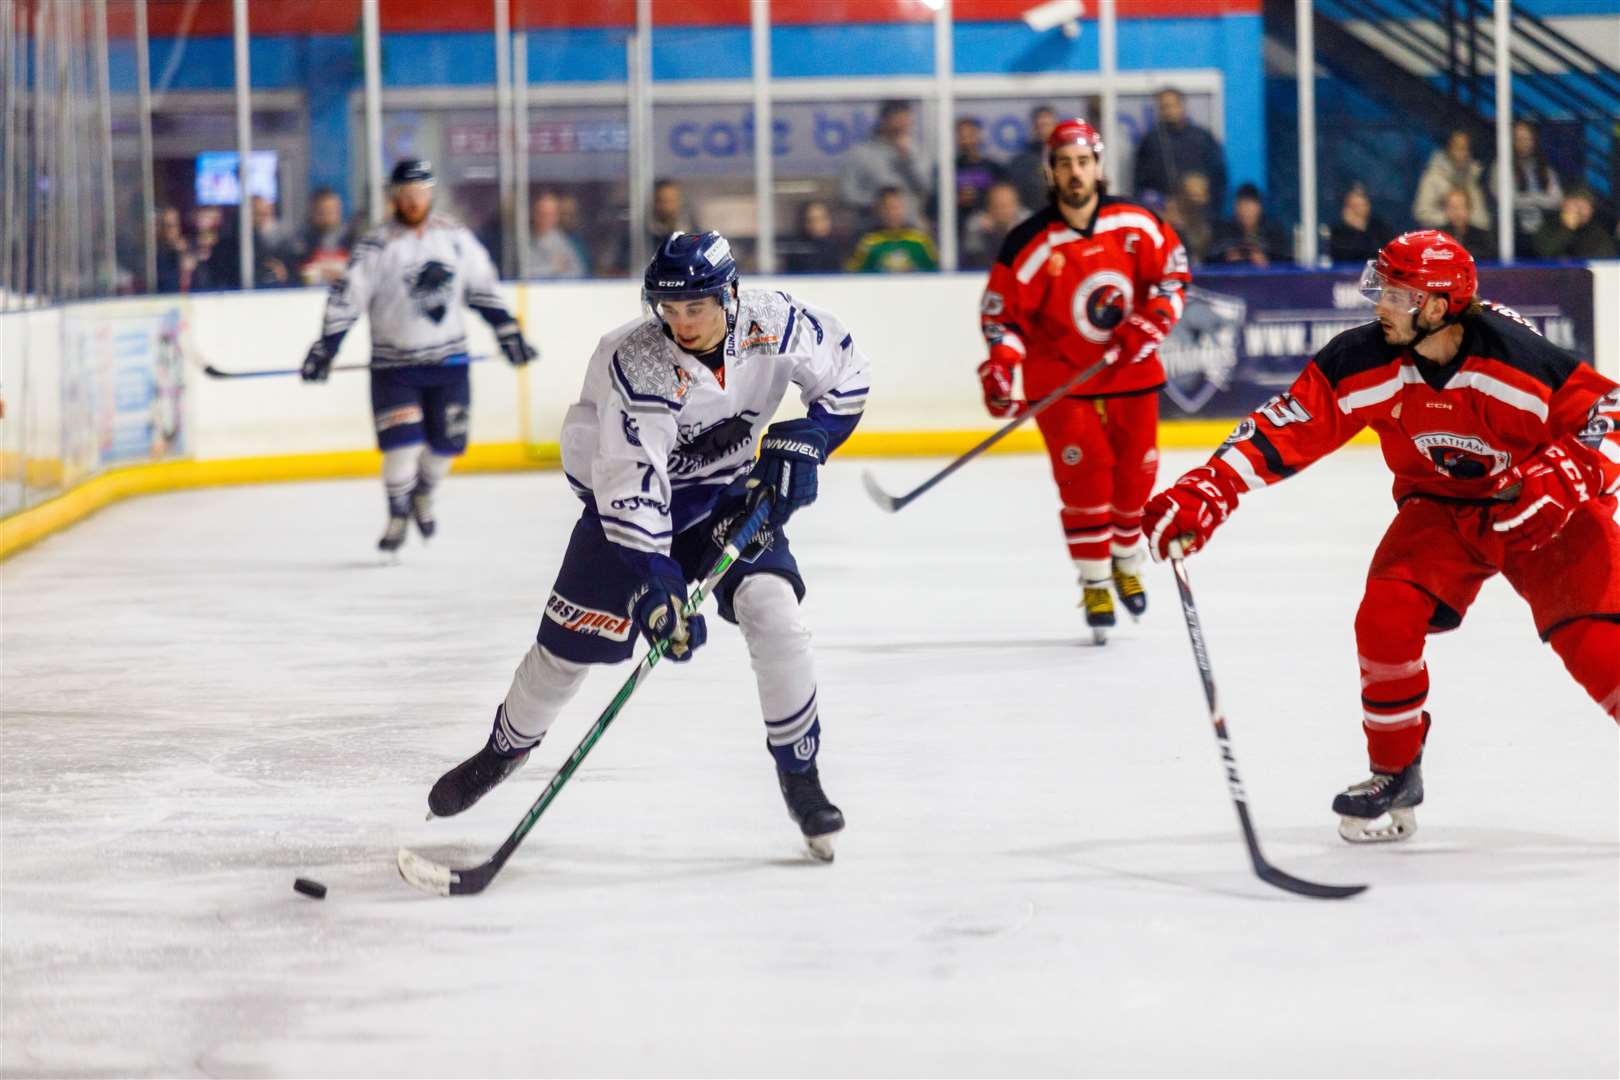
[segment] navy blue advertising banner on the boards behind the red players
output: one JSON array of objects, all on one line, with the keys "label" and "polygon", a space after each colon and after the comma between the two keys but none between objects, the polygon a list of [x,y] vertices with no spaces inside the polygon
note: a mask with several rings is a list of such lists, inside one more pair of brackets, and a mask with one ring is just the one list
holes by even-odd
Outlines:
[{"label": "navy blue advertising banner on the boards behind the red players", "polygon": [[[1160,358],[1165,418],[1238,418],[1288,387],[1333,335],[1372,321],[1361,269],[1194,270]],[[1586,267],[1481,269],[1479,295],[1507,304],[1588,363],[1594,348]]]}]

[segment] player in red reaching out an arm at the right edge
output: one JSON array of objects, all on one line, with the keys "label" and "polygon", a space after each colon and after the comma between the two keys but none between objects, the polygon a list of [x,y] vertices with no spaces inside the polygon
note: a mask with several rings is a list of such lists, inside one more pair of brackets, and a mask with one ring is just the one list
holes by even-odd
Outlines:
[{"label": "player in red reaching out an arm at the right edge", "polygon": [[[1335,337],[1207,465],[1147,504],[1155,559],[1187,554],[1244,492],[1372,427],[1395,473],[1395,521],[1356,614],[1371,779],[1333,800],[1351,842],[1416,829],[1429,735],[1424,638],[1455,630],[1495,573],[1536,630],[1620,721],[1620,387],[1476,295],[1474,261],[1424,230],[1362,274],[1377,322]],[[1385,819],[1387,816],[1387,819]]]}]

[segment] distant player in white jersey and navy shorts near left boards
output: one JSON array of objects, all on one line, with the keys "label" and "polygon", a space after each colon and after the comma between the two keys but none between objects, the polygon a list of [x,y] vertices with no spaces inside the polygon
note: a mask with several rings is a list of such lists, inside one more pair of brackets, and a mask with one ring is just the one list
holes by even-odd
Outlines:
[{"label": "distant player in white jersey and navy shorts near left boards", "polygon": [[405,542],[410,518],[423,539],[436,521],[433,492],[467,450],[471,392],[462,304],[494,329],[512,364],[535,350],[496,291],[496,269],[473,233],[433,212],[433,165],[402,160],[390,178],[394,220],[355,244],[348,270],[326,301],[321,340],[303,363],[305,382],[324,382],[343,335],[371,316],[371,413],[382,450],[389,521],[377,549]]}]

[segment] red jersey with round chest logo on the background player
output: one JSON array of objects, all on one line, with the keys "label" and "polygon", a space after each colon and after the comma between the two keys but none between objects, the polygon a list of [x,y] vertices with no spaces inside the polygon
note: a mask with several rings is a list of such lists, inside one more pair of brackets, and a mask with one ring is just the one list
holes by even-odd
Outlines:
[{"label": "red jersey with round chest logo on the background player", "polygon": [[[1077,232],[1048,206],[1001,244],[978,306],[980,330],[993,359],[1024,364],[1024,395],[1034,400],[1102,358],[1132,313],[1168,334],[1189,280],[1176,230],[1152,210],[1103,198],[1090,228]],[[1165,368],[1153,353],[1103,369],[1076,395],[1139,393],[1163,384]]]}]

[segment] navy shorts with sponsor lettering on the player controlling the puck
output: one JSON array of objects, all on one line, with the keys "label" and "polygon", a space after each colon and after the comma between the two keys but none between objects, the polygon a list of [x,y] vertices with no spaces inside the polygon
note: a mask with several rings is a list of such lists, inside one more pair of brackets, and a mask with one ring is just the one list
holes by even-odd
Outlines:
[{"label": "navy shorts with sponsor lettering on the player controlling the puck", "polygon": [[[724,513],[713,515],[676,536],[671,557],[680,563],[687,581],[697,581],[714,568],[719,544],[713,539],[714,523]],[[737,622],[731,607],[737,588],[755,573],[774,573],[787,578],[802,601],[805,583],[799,576],[799,563],[787,546],[787,538],[776,533],[770,547],[752,560],[739,560],[721,580],[714,599],[719,601],[719,617]],[[546,614],[539,620],[539,643],[556,656],[575,664],[617,664],[627,659],[640,636],[630,619],[630,594],[642,581],[624,563],[614,544],[603,536],[596,510],[585,508],[569,551],[562,557],[562,570],[546,601]]]}]

